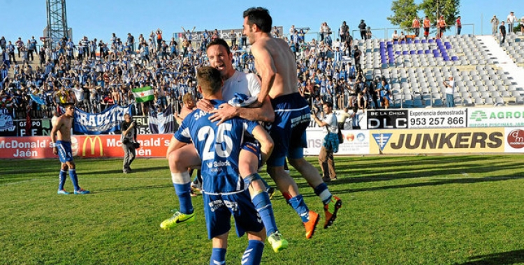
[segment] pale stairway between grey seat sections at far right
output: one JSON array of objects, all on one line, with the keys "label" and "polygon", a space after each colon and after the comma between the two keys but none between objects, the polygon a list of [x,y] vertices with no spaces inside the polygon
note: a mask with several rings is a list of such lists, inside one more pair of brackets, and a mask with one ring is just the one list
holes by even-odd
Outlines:
[{"label": "pale stairway between grey seat sections at far right", "polygon": [[486,51],[490,52],[495,58],[495,66],[509,73],[509,76],[513,77],[512,83],[516,83],[516,86],[524,88],[524,68],[518,67],[514,63],[493,36],[484,35],[476,38],[485,47]]}]

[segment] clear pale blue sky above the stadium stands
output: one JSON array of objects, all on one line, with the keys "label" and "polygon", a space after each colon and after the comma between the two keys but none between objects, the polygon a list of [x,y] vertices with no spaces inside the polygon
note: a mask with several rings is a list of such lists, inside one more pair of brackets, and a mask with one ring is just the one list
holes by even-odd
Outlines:
[{"label": "clear pale blue sky above the stadium stands", "polygon": [[[421,0],[415,0],[420,3]],[[509,11],[517,17],[524,16],[522,0],[462,0],[460,15],[463,32],[476,34],[490,32],[489,20],[493,15],[507,17]],[[310,27],[318,31],[322,22],[328,22],[332,29],[338,29],[343,20],[351,30],[356,29],[361,19],[372,29],[393,28],[386,17],[392,15],[391,1],[347,1],[347,0],[265,0],[265,1],[193,1],[193,0],[68,0],[66,10],[68,26],[73,29],[73,40],[82,36],[108,41],[111,33],[124,38],[127,33],[136,38],[140,33],[149,35],[152,30],[162,29],[164,38],[185,29],[240,29],[242,12],[252,6],[263,6],[270,10],[273,24],[284,27],[287,32],[291,24],[296,27]],[[518,10],[520,8],[520,10]],[[0,0],[0,36],[7,40],[22,37],[27,41],[31,36],[43,36],[47,25],[45,0]],[[422,14],[421,14],[422,15]],[[483,15],[483,20],[481,16]],[[483,24],[481,24],[483,22]],[[384,38],[385,31],[374,30],[377,38]],[[391,36],[388,31],[388,36]]]}]

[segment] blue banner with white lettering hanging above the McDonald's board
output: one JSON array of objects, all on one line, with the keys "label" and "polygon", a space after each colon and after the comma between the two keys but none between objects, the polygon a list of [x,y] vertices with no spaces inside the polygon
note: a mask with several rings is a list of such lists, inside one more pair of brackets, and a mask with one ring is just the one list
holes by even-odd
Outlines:
[{"label": "blue banner with white lettering hanging above the McDonald's board", "polygon": [[131,113],[129,107],[112,105],[100,113],[88,113],[75,108],[75,121],[73,128],[77,134],[103,135],[120,130],[124,121],[124,114]]}]

